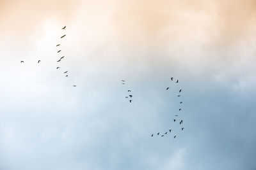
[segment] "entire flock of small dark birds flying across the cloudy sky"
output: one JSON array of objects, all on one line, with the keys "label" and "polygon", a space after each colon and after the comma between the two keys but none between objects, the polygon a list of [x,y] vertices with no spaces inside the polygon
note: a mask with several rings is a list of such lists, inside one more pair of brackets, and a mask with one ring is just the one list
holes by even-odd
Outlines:
[{"label": "entire flock of small dark birds flying across the cloudy sky", "polygon": [[[63,27],[63,28],[61,28],[61,29],[65,30],[65,29],[66,29],[66,26]],[[61,39],[62,39],[62,38],[65,38],[65,36],[66,36],[66,34],[64,34],[63,36],[61,36]],[[56,47],[58,47],[58,46],[61,46],[61,44],[57,44],[57,45],[56,45]],[[60,52],[61,52],[61,50],[58,50],[58,51],[57,51],[57,53],[60,53]],[[58,59],[57,62],[58,62],[58,63],[61,62],[61,60],[63,60],[64,57],[65,57],[65,56],[60,57],[60,59]],[[41,62],[41,60],[38,60],[37,63],[39,64],[40,62]],[[21,60],[20,63],[24,63],[24,60]],[[57,66],[57,67],[56,67],[56,69],[60,69],[60,68],[61,68],[60,66]],[[68,77],[68,71],[65,71],[65,72],[63,72],[63,73],[65,74],[66,77]],[[125,80],[121,80],[121,81],[122,81],[122,84],[125,85]],[[171,78],[171,81],[173,81],[173,77]],[[179,83],[179,80],[177,80],[175,83]],[[73,85],[73,87],[76,87],[76,85]],[[170,87],[166,87],[166,91],[169,90],[169,89],[170,89]],[[128,94],[128,96],[125,96],[125,99],[128,99],[128,100],[129,100],[129,103],[132,103],[132,94],[131,94],[131,90],[127,90],[127,92],[129,92],[129,94]],[[182,92],[182,89],[179,90],[179,94],[177,95],[177,97],[180,97],[181,92]],[[182,104],[183,102],[180,101],[179,103]],[[179,111],[181,111],[181,110],[182,110],[182,108],[180,107],[180,108],[179,108]],[[183,120],[177,121],[177,117],[179,117],[179,115],[174,115],[174,116],[175,116],[175,118],[173,119],[173,122],[179,122],[179,124],[182,125],[182,124],[183,124]],[[184,127],[181,127],[180,129],[181,129],[181,131],[183,131],[183,130],[184,130]],[[156,136],[164,137],[164,135],[167,135],[168,133],[171,133],[171,132],[172,132],[172,129],[169,129],[167,132],[163,132],[163,133],[157,132],[155,135],[156,135]],[[154,137],[154,134],[151,134],[151,137]],[[173,138],[176,138],[176,137],[177,137],[177,135],[174,134]]]}]

